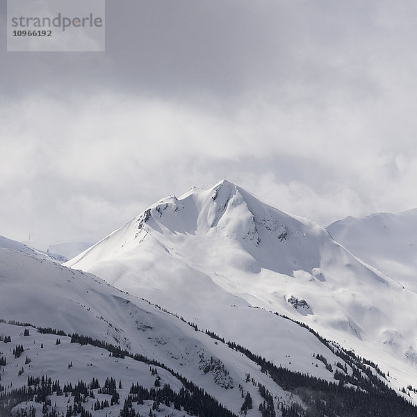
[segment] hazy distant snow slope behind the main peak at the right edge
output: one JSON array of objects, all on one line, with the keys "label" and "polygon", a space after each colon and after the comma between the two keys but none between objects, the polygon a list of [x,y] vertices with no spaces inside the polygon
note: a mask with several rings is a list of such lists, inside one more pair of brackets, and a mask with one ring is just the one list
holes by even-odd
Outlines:
[{"label": "hazy distant snow slope behind the main peak at the right edge", "polygon": [[350,252],[417,292],[417,208],[348,217],[327,229]]}]

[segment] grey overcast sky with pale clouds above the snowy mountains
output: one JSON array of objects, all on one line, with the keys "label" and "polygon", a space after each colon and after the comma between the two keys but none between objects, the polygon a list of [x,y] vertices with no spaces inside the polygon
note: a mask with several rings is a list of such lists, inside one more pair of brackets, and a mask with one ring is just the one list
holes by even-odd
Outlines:
[{"label": "grey overcast sky with pale clouds above the snowy mountains", "polygon": [[329,224],[417,207],[417,2],[108,0],[105,53],[7,53],[0,235],[95,241],[227,178]]}]

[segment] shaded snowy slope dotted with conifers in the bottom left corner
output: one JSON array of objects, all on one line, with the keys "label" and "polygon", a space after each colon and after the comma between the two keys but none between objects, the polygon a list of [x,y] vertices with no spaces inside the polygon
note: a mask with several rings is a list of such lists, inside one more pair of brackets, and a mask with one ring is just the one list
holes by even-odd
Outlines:
[{"label": "shaded snowy slope dotted with conifers in the bottom left corner", "polygon": [[[28,336],[24,336],[24,329],[28,329]],[[140,382],[147,389],[154,388],[156,380],[154,370],[157,372],[156,375],[161,378],[161,386],[170,384],[174,391],[179,391],[183,387],[177,378],[163,368],[152,366],[152,372],[149,365],[143,362],[134,361],[128,357],[124,359],[109,357],[107,350],[91,345],[81,346],[78,343],[70,343],[70,337],[67,336],[42,334],[33,327],[19,327],[5,323],[0,323],[0,334],[11,338],[10,343],[0,342],[0,350],[3,350],[0,356],[6,359],[6,366],[3,366],[1,373],[3,386],[6,384],[6,386],[10,386],[11,382],[13,389],[23,388],[27,385],[28,377],[39,377],[40,379],[49,377],[53,382],[59,380],[61,389],[64,389],[65,384],[76,386],[79,381],[90,383],[92,378],[98,379],[101,387],[104,386],[106,378],[115,379],[117,388],[121,382],[122,388],[117,389],[120,403],[96,411],[95,416],[117,415],[124,404],[123,399],[129,394],[131,385],[136,382]],[[18,358],[10,352],[10,349],[14,350],[17,345],[24,347],[24,352]],[[6,393],[8,392],[10,389],[6,389]],[[107,400],[111,404],[111,395],[99,393],[99,389],[92,389],[92,392],[94,398],[87,398],[87,401],[83,402],[83,407],[87,411],[90,411],[92,405],[94,407],[97,400],[100,402]],[[74,405],[73,401],[68,404],[67,396],[56,395],[56,393],[50,395],[49,400],[51,400],[51,406],[48,407],[48,411],[55,408],[59,414],[62,412],[66,414],[68,406]],[[152,401],[147,400],[145,404],[135,404],[134,409],[147,415],[152,404]],[[20,409],[30,409],[30,407],[35,408],[39,416],[42,415],[42,403],[33,401],[16,405],[12,412],[15,414]],[[189,415],[164,404],[159,408],[161,412],[172,413],[176,417]]]}]

